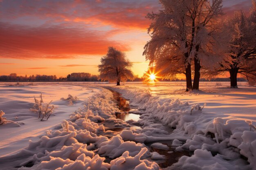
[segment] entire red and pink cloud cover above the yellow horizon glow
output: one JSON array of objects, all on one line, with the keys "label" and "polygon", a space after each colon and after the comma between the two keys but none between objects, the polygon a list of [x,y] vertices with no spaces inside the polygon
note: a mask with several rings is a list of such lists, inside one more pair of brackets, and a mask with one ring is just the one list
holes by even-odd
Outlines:
[{"label": "entire red and pink cloud cover above the yellow horizon glow", "polygon": [[[223,3],[227,15],[251,6],[251,0]],[[130,36],[121,35],[146,33],[146,14],[159,9],[158,0],[2,0],[0,58],[88,58],[106,54],[108,46],[130,51],[131,42],[124,42]]]}]

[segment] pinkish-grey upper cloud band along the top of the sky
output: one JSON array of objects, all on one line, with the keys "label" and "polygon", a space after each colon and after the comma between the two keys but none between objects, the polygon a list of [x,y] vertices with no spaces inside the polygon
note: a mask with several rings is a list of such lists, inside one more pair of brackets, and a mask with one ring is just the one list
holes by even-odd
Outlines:
[{"label": "pinkish-grey upper cloud band along the top of the sky", "polygon": [[8,19],[36,17],[47,22],[82,22],[92,26],[146,29],[147,13],[159,10],[157,0],[6,0],[2,13]]}]

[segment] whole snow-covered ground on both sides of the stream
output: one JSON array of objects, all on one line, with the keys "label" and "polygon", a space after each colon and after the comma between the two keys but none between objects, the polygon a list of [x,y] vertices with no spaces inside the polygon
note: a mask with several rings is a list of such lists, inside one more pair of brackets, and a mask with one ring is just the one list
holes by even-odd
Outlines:
[{"label": "whole snow-covered ground on both sides of the stream", "polygon": [[[157,170],[188,151],[166,169],[256,169],[256,88],[227,86],[202,82],[186,93],[185,82],[0,83],[2,117],[18,123],[0,125],[0,169]],[[117,119],[128,113],[108,89],[129,99],[130,117],[140,119]],[[44,121],[29,111],[41,92],[54,105]],[[61,99],[69,94],[79,99]]]}]

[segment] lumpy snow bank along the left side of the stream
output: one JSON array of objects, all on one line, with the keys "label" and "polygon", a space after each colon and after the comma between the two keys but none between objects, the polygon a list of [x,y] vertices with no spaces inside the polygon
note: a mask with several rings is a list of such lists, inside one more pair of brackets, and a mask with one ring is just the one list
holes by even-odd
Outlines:
[{"label": "lumpy snow bank along the left side of the stream", "polygon": [[[144,144],[124,141],[120,135],[110,139],[102,136],[105,127],[98,121],[128,126],[115,118],[115,112],[120,110],[112,102],[112,93],[101,89],[70,119],[56,125],[54,130],[47,130],[38,141],[29,141],[17,154],[1,157],[0,162],[18,160],[18,170],[158,170],[156,163],[141,160],[151,156]],[[104,157],[113,160],[106,163]],[[28,164],[33,166],[26,167]]]}]

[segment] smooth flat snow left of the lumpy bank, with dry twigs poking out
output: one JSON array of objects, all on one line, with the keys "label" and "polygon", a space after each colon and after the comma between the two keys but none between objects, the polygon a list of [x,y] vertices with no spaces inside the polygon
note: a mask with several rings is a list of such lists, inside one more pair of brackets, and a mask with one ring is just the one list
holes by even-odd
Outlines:
[{"label": "smooth flat snow left of the lumpy bank, with dry twigs poking out", "polygon": [[[37,140],[38,136],[42,135],[46,130],[54,128],[63,119],[67,119],[79,107],[83,107],[84,100],[88,99],[98,88],[86,90],[88,85],[59,85],[52,86],[49,83],[34,83],[34,86],[0,86],[0,110],[5,112],[7,120],[24,123],[20,128],[16,128],[13,124],[4,124],[1,126],[1,131],[7,131],[5,135],[1,136],[0,156],[8,155],[21,148],[27,146],[28,140]],[[22,84],[22,83],[20,83]],[[81,91],[83,89],[83,91]],[[72,91],[72,93],[70,92]],[[38,115],[29,111],[34,105],[34,96],[39,98],[40,93],[43,92],[43,100],[45,102],[52,101],[54,108],[53,114],[47,121],[38,120]],[[68,102],[62,101],[62,97],[66,97],[69,93],[78,96],[78,100],[74,106],[68,106]],[[17,117],[17,118],[16,118]]]}]

